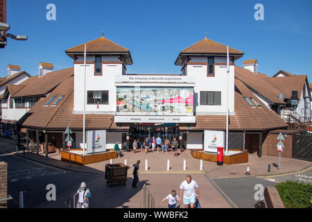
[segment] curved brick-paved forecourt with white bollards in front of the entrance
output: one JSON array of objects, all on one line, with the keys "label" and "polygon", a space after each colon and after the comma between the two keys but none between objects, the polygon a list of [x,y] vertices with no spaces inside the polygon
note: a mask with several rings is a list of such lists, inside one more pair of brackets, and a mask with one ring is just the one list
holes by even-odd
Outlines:
[{"label": "curved brick-paved forecourt with white bollards in front of the entrance", "polygon": [[[138,153],[123,152],[123,157],[118,157],[112,160],[112,163],[125,163],[127,162],[130,169],[128,173],[132,174],[132,165],[141,161],[140,173],[143,174],[206,174],[210,178],[241,178],[248,177],[245,175],[248,164],[250,166],[250,176],[270,176],[279,173],[288,173],[293,171],[299,171],[311,166],[311,162],[296,160],[291,158],[281,158],[281,169],[275,167],[279,163],[279,157],[272,157],[263,155],[258,157],[256,153],[249,155],[249,162],[243,164],[223,164],[223,166],[217,166],[215,162],[203,161],[203,170],[200,171],[200,160],[194,159],[191,151],[184,150],[179,155],[173,156],[173,152],[168,153],[153,153],[150,151],[145,154],[144,150],[139,149]],[[21,157],[26,157],[28,159],[42,162],[44,164],[49,164],[51,166],[59,167],[62,169],[73,170],[73,171],[85,171],[92,173],[103,173],[105,169],[105,164],[110,163],[110,160],[97,162],[94,164],[88,164],[86,166],[81,166],[78,164],[71,164],[69,167],[68,162],[60,161],[60,154],[58,151],[56,153],[49,153],[49,157],[46,158],[44,153],[42,155],[37,155],[35,153],[26,152],[23,155],[22,151],[19,151],[18,155]],[[148,161],[148,171],[145,170],[146,160]],[[167,171],[167,162],[169,160],[170,170]],[[183,170],[184,160],[186,161],[187,170]],[[268,164],[270,164],[270,173],[268,173]]]}]

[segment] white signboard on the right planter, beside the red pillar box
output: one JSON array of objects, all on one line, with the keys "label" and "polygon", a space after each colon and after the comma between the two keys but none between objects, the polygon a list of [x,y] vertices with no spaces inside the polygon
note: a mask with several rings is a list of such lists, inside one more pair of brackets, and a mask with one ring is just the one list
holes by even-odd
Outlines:
[{"label": "white signboard on the right planter, beside the red pillar box", "polygon": [[224,131],[205,130],[204,151],[217,153],[217,147],[224,147]]}]

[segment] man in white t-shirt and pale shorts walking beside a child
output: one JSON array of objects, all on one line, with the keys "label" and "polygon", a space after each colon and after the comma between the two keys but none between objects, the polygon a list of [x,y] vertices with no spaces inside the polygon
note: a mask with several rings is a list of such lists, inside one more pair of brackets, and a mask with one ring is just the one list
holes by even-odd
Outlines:
[{"label": "man in white t-shirt and pale shorts walking beside a child", "polygon": [[182,197],[183,193],[183,204],[185,205],[185,208],[189,208],[189,205],[191,205],[191,208],[194,208],[196,194],[199,200],[198,185],[195,180],[192,180],[191,175],[187,175],[186,179],[187,180],[184,180],[180,185],[180,196]]}]

